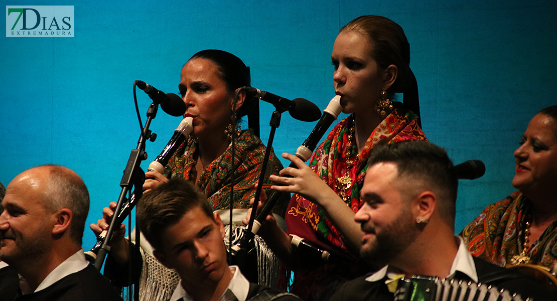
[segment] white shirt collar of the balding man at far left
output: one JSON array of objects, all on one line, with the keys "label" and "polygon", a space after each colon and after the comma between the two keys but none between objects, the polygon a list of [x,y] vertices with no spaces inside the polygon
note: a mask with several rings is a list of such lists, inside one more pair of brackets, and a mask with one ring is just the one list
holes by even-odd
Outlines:
[{"label": "white shirt collar of the balding man at far left", "polygon": [[31,294],[36,293],[39,290],[43,290],[47,287],[50,287],[52,284],[56,283],[58,280],[66,277],[67,275],[74,274],[83,270],[87,267],[89,263],[85,260],[85,253],[83,249],[80,249],[74,255],[71,255],[66,260],[64,260],[61,264],[58,265],[55,269],[48,274],[48,276],[42,280],[41,284],[38,285],[37,289],[34,292],[31,292],[29,285],[25,279],[19,275],[19,287],[21,288],[21,293]]}]

